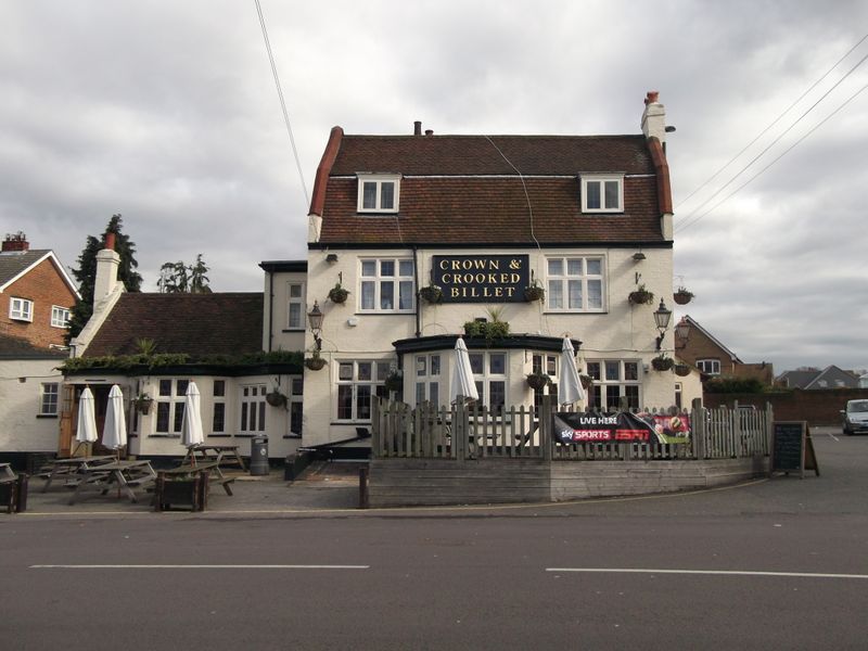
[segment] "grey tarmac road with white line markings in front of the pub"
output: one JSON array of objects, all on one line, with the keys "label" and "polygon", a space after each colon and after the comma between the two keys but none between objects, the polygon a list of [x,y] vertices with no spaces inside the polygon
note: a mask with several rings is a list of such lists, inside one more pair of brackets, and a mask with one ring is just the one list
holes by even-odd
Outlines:
[{"label": "grey tarmac road with white line markings in front of the pub", "polygon": [[866,649],[868,436],[820,476],[333,515],[0,518],[0,649]]}]

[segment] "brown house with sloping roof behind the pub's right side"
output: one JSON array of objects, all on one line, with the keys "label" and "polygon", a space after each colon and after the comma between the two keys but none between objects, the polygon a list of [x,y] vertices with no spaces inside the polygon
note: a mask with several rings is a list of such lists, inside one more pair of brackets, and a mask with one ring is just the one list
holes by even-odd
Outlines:
[{"label": "brown house with sloping roof behind the pub's right side", "polygon": [[682,321],[689,329],[687,336],[675,337],[676,354],[699,369],[703,378],[755,378],[769,386],[774,383],[775,372],[770,362],[744,362],[695,319],[686,315]]}]

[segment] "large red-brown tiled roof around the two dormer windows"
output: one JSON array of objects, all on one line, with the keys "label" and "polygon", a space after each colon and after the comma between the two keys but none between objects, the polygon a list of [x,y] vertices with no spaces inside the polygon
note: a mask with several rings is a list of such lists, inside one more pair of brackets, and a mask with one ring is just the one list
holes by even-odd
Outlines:
[{"label": "large red-brown tiled roof around the two dormer windows", "polygon": [[[404,176],[397,216],[357,214],[361,171]],[[582,214],[579,173],[628,175],[625,212]],[[344,136],[320,242],[663,242],[654,175],[642,136]]]}]

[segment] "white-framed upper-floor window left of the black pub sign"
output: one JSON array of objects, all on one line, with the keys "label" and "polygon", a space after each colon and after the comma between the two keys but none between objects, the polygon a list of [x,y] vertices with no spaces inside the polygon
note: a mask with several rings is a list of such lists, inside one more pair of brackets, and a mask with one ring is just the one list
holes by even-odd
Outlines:
[{"label": "white-framed upper-floor window left of the black pub sign", "polygon": [[379,312],[413,310],[411,258],[369,258],[359,261],[359,309]]}]

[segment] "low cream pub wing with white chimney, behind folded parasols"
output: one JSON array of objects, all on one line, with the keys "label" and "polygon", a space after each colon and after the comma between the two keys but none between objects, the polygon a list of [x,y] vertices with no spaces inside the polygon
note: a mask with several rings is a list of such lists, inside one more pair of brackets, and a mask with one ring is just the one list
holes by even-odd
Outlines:
[{"label": "low cream pub wing with white chimney, behind folded parasols", "polygon": [[[251,439],[267,436],[270,457],[294,452],[302,436],[297,350],[304,315],[302,330],[292,329],[298,321],[292,288],[303,285],[306,264],[264,263],[265,293],[127,293],[117,280],[119,256],[111,245],[108,239],[97,256],[93,316],[72,342],[74,358],[65,369],[69,399],[62,454],[71,451],[75,439],[84,387],[94,395],[102,432],[108,391],[117,384],[127,408],[128,451],[150,458],[182,455],[190,382],[201,394],[206,443],[238,445],[248,455]],[[276,295],[278,283],[285,294]],[[99,442],[94,449],[101,450]]]}]

